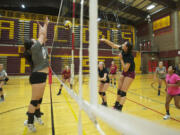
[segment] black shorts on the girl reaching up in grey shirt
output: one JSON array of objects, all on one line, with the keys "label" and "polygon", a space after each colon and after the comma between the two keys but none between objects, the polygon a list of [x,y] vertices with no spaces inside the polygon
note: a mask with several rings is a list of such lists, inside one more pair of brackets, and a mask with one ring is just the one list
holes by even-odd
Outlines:
[{"label": "black shorts on the girl reaching up in grey shirt", "polygon": [[33,72],[29,77],[30,84],[45,83],[47,79],[47,73]]}]

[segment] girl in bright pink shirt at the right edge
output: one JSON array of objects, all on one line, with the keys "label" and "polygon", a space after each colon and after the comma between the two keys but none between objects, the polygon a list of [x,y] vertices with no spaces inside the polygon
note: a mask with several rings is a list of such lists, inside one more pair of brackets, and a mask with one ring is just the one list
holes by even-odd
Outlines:
[{"label": "girl in bright pink shirt at the right edge", "polygon": [[175,74],[176,68],[175,66],[169,66],[168,74],[166,75],[166,85],[167,85],[167,96],[166,96],[166,115],[164,119],[170,118],[169,113],[169,104],[171,100],[174,98],[175,106],[180,109],[180,77]]}]

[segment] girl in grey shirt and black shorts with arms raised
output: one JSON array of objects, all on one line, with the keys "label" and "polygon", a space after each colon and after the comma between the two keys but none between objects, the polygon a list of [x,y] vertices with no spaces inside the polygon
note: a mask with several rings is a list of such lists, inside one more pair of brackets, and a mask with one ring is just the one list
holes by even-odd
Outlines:
[{"label": "girl in grey shirt and black shorts with arms raised", "polygon": [[39,24],[38,40],[26,40],[24,43],[24,57],[32,68],[32,73],[29,78],[32,86],[32,97],[27,112],[28,120],[24,122],[24,125],[32,132],[36,131],[34,118],[39,124],[43,125],[43,121],[41,120],[42,113],[40,112],[40,104],[42,103],[49,67],[48,51],[44,46],[47,40],[48,23],[49,20],[46,17],[44,26],[42,27]]}]

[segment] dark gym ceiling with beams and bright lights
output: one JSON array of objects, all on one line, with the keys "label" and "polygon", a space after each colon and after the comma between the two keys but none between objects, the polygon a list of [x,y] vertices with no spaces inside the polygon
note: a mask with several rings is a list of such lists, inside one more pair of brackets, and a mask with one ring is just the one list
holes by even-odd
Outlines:
[{"label": "dark gym ceiling with beams and bright lights", "polygon": [[[88,1],[84,0],[84,18],[88,19]],[[58,15],[61,0],[2,0],[0,9]],[[76,0],[76,17],[80,13],[80,0]],[[180,0],[98,0],[99,18],[118,24],[137,25],[162,12],[179,9]],[[24,4],[26,8],[21,7]],[[72,0],[64,0],[64,17],[72,16]]]}]

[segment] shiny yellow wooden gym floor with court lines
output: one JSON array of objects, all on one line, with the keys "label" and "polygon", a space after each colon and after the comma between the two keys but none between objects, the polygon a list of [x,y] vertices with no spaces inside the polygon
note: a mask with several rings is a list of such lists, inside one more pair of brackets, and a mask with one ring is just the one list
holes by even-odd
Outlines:
[{"label": "shiny yellow wooden gym floor with court lines", "polygon": [[[78,81],[75,81],[75,91],[78,91]],[[77,135],[78,134],[78,105],[70,96],[62,91],[60,96],[56,96],[59,82],[53,79],[52,94],[54,107],[54,123],[56,135]],[[127,101],[123,112],[127,112],[155,123],[176,128],[180,130],[180,110],[171,102],[171,119],[163,120],[165,114],[164,85],[161,96],[157,96],[157,83],[153,83],[152,75],[137,75],[127,94]],[[45,125],[36,125],[37,132],[30,133],[24,127],[25,115],[31,97],[31,86],[27,76],[10,77],[7,85],[3,87],[5,102],[0,103],[0,135],[51,135],[51,110],[49,85],[47,84],[41,110]],[[88,78],[84,79],[83,98],[89,100]],[[116,98],[116,88],[109,87],[107,99],[109,107],[113,106]],[[101,99],[99,98],[99,103]],[[98,120],[101,128],[107,135],[117,135],[107,124]],[[89,120],[86,113],[82,114],[83,134],[98,135],[98,131]]]}]

